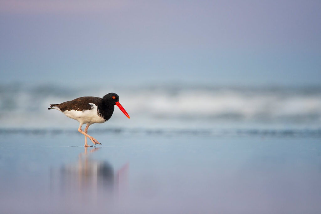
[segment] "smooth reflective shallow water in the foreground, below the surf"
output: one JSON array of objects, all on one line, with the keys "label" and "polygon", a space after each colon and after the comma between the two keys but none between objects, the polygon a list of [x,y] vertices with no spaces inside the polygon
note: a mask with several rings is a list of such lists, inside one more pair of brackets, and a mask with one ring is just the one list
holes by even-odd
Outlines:
[{"label": "smooth reflective shallow water in the foreground, below the surf", "polygon": [[0,132],[1,213],[319,213],[317,136]]}]

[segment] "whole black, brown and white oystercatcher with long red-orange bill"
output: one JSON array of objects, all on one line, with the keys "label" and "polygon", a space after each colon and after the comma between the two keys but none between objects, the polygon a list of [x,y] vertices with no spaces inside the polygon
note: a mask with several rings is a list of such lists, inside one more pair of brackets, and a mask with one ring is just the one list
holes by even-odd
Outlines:
[{"label": "whole black, brown and white oystercatcher with long red-orange bill", "polygon": [[[109,93],[100,97],[80,97],[71,101],[60,104],[51,104],[48,109],[57,109],[65,114],[65,116],[77,120],[80,125],[78,132],[85,135],[85,147],[87,144],[87,137],[96,145],[100,144],[95,138],[91,137],[88,132],[88,127],[94,123],[105,123],[112,116],[115,105],[128,117],[128,113],[119,103],[119,96],[115,93]],[[84,131],[81,127],[87,124]]]}]

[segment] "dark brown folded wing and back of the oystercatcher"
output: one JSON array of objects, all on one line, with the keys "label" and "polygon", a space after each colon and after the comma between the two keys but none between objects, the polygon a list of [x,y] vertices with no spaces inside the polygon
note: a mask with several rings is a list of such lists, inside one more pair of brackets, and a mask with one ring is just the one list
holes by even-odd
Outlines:
[{"label": "dark brown folded wing and back of the oystercatcher", "polygon": [[51,107],[58,107],[62,112],[68,110],[76,110],[83,111],[91,109],[91,105],[89,103],[93,103],[98,106],[101,103],[102,98],[99,97],[80,97],[71,101],[66,101],[60,104],[51,104]]}]

